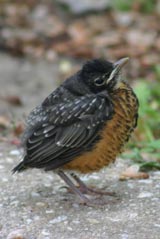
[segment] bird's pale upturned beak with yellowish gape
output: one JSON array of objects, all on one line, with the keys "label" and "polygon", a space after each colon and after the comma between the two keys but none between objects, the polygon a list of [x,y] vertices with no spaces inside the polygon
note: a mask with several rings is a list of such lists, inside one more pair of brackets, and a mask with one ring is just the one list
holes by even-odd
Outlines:
[{"label": "bird's pale upturned beak with yellowish gape", "polygon": [[118,75],[118,73],[121,71],[121,69],[128,63],[129,61],[129,58],[128,57],[125,57],[125,58],[122,58],[118,61],[116,61],[115,63],[113,63],[113,71],[111,72],[110,76],[109,76],[109,79],[107,79],[107,83],[109,81],[111,81],[115,76]]}]

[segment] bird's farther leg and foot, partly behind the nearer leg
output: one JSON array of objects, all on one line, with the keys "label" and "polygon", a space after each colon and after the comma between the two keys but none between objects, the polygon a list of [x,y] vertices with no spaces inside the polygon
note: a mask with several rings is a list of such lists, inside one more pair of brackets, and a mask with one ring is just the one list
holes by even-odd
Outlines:
[{"label": "bird's farther leg and foot, partly behind the nearer leg", "polygon": [[86,184],[84,184],[82,180],[74,173],[71,173],[71,176],[78,183],[79,190],[84,194],[99,194],[99,195],[115,196],[114,192],[104,192],[104,191],[101,191],[100,189],[98,190],[98,189],[87,187]]}]

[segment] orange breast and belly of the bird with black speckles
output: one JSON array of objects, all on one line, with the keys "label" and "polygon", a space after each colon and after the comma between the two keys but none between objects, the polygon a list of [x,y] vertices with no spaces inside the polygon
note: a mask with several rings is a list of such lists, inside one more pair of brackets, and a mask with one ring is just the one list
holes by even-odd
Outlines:
[{"label": "orange breast and belly of the bird with black speckles", "polygon": [[101,139],[92,151],[85,152],[63,166],[63,169],[81,173],[98,171],[114,162],[136,124],[137,99],[129,88],[117,90],[113,95],[115,114],[106,122],[101,132]]}]

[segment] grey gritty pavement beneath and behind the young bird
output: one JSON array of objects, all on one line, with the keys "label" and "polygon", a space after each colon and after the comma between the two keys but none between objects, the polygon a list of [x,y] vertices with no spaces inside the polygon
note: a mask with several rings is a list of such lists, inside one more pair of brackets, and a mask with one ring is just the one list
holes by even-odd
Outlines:
[{"label": "grey gritty pavement beneath and behind the young bird", "polygon": [[[12,120],[24,115],[55,88],[57,63],[31,62],[0,55],[0,95],[18,95],[21,107],[1,101],[0,114]],[[130,164],[118,159],[99,173],[83,176],[89,185],[107,186],[117,197],[103,207],[80,205],[60,178],[40,170],[12,175],[21,152],[0,142],[0,239],[159,239],[160,172],[148,179],[120,181]],[[18,237],[19,235],[19,237]]]}]

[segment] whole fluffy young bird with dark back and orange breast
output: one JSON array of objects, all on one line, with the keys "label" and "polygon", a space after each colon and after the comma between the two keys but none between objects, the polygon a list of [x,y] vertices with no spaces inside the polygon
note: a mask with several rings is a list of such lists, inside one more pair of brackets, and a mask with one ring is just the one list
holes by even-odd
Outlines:
[{"label": "whole fluffy young bird with dark back and orange breast", "polygon": [[98,204],[86,194],[105,192],[89,188],[77,173],[114,163],[137,126],[139,102],[122,75],[128,61],[88,60],[36,106],[22,136],[24,158],[13,173],[52,170],[81,202]]}]

